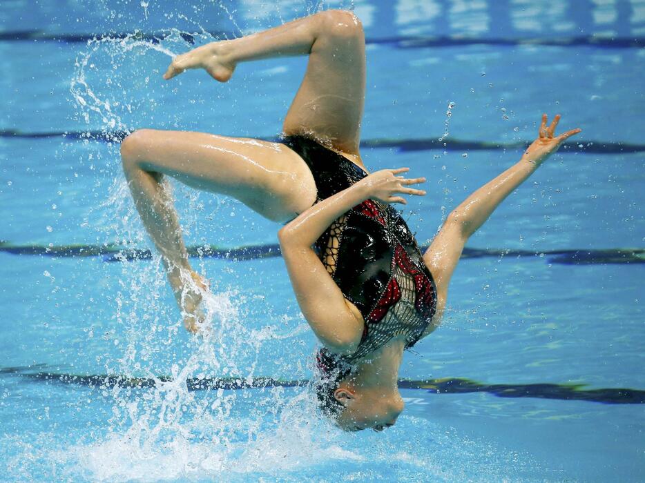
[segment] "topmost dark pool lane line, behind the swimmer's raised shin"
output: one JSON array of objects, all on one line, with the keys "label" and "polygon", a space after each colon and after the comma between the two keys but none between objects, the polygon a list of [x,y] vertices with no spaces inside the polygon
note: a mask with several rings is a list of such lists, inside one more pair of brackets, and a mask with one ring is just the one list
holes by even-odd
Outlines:
[{"label": "topmost dark pool lane line, behind the swimmer's raised shin", "polygon": [[[212,39],[234,39],[234,32],[224,30],[210,32],[103,32],[103,33],[55,33],[46,30],[14,30],[0,32],[0,41],[52,41],[63,43],[86,43],[90,40],[133,39],[160,43],[168,37],[179,34],[184,41],[194,44],[196,39],[204,39],[204,33]],[[211,40],[211,39],[209,39]],[[578,35],[576,37],[464,37],[463,35],[393,35],[390,37],[367,36],[365,43],[386,45],[394,48],[442,48],[472,45],[485,46],[555,46],[555,47],[601,47],[601,48],[641,48],[645,47],[645,37],[605,37],[598,35]]]}]

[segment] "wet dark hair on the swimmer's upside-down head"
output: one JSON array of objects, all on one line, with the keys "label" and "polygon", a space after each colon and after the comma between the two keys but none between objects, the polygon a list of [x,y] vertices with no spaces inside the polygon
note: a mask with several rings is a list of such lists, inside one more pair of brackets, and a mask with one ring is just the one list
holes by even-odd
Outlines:
[{"label": "wet dark hair on the swimmer's upside-down head", "polygon": [[334,397],[340,381],[352,373],[354,366],[347,364],[340,356],[320,349],[316,354],[316,375],[314,377],[314,391],[318,399],[318,408],[323,415],[336,419],[343,411],[343,404]]}]

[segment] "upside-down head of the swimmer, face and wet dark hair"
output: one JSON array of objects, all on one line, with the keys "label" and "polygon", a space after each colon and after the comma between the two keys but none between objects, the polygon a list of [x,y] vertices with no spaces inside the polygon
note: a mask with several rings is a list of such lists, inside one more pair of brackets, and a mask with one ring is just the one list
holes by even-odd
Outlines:
[{"label": "upside-down head of the swimmer, face and wet dark hair", "polygon": [[[321,367],[321,359],[327,366]],[[319,353],[318,368],[323,371],[316,382],[316,395],[325,416],[345,431],[383,431],[393,426],[404,406],[398,388],[360,384],[355,367],[339,368],[335,361],[333,371],[329,371],[330,360],[334,361],[333,355]]]}]

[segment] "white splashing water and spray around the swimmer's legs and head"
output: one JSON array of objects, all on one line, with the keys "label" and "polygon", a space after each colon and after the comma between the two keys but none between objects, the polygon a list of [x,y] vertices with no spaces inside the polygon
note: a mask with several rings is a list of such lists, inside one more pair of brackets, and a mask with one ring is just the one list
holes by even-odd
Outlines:
[{"label": "white splashing water and spray around the swimmer's legs and head", "polygon": [[[226,10],[222,2],[219,4]],[[228,14],[242,33],[233,14]],[[189,20],[182,14],[176,17]],[[201,26],[200,32],[203,40],[212,39]],[[175,52],[187,50],[184,33],[175,30],[162,41],[142,39],[135,32],[124,39],[103,37],[88,42],[77,57],[70,82],[77,116],[88,130],[127,132],[153,117],[164,101],[163,91],[150,87],[154,87],[152,76],[163,70],[157,65],[160,56],[156,54],[169,60]],[[151,57],[157,58],[151,61]],[[162,89],[171,88],[164,85]],[[454,107],[449,103],[441,141],[449,135]],[[111,158],[106,161],[113,172],[119,169],[116,141],[108,145]],[[101,220],[106,239],[126,247],[148,244],[123,177],[113,174],[108,182],[108,198],[93,208],[90,216]],[[200,195],[178,187],[175,194],[189,198],[188,209],[180,213],[186,231],[203,226],[206,208]],[[216,211],[224,216],[230,208],[231,202],[218,201]],[[279,364],[280,355],[263,352],[267,343],[286,339],[287,345],[308,332],[307,326],[299,324],[286,331],[269,326],[251,328],[244,320],[249,295],[229,286],[223,275],[216,276],[213,293],[204,299],[206,330],[202,337],[189,339],[177,309],[168,304],[169,288],[160,257],[152,263],[124,263],[120,267],[113,328],[104,334],[106,341],[119,347],[120,357],[105,361],[106,372],[150,377],[155,386],[102,388],[112,404],[106,431],[54,454],[41,455],[45,461],[63,462],[70,477],[77,478],[80,473],[88,480],[116,482],[221,480],[223,473],[227,480],[292,474],[298,480],[320,481],[320,469],[324,469],[327,475],[336,475],[334,478],[355,475],[360,480],[376,476],[378,471],[391,471],[395,464],[401,481],[412,480],[419,473],[443,481],[463,480],[467,471],[443,469],[441,455],[454,461],[454,454],[464,455],[469,469],[481,469],[476,461],[479,450],[485,448],[463,438],[451,440],[427,420],[403,416],[401,428],[385,437],[367,432],[347,435],[314,417],[306,389],[189,391],[189,378],[244,380],[256,375],[260,357],[273,357]],[[203,265],[200,271],[204,271]],[[168,372],[172,375],[169,381],[157,377]],[[289,372],[294,378],[309,375],[302,366],[290,367]],[[428,434],[436,444],[423,450],[419,458],[418,449],[423,448]],[[393,441],[398,448],[394,452]],[[472,449],[476,456],[464,448]],[[495,468],[493,463],[483,474],[499,476]]]}]

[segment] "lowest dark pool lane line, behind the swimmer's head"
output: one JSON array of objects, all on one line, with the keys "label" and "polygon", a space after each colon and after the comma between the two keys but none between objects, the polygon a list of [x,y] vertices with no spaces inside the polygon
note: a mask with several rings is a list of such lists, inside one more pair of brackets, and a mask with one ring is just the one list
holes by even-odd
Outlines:
[{"label": "lowest dark pool lane line, behind the swimmer's head", "polygon": [[[1,375],[19,375],[34,382],[53,382],[59,384],[75,384],[90,388],[153,388],[160,382],[170,382],[169,376],[126,377],[123,375],[78,375],[53,372],[30,372],[30,368],[8,368],[0,370]],[[190,377],[186,380],[189,391],[206,391],[224,389],[235,391],[251,388],[271,387],[304,387],[308,380],[279,380],[273,377]],[[603,404],[645,404],[645,391],[632,388],[586,388],[586,384],[485,384],[463,377],[444,377],[429,380],[398,380],[401,389],[417,389],[430,394],[469,394],[488,393],[497,397],[520,398],[533,397],[537,399],[561,401],[586,401]]]}]

